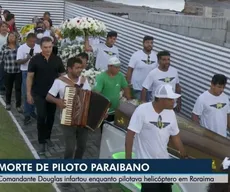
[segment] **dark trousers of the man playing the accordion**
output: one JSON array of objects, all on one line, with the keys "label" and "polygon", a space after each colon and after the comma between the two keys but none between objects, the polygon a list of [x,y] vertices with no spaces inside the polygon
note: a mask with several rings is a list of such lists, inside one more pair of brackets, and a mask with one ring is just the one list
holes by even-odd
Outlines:
[{"label": "dark trousers of the man playing the accordion", "polygon": [[64,159],[82,159],[86,149],[88,129],[63,125],[61,128],[65,140]]}]

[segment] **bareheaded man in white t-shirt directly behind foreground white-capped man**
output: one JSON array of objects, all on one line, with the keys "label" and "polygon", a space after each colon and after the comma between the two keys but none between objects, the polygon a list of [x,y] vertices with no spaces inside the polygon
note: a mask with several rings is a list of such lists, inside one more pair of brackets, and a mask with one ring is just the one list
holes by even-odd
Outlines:
[{"label": "bareheaded man in white t-shirt directly behind foreground white-capped man", "polygon": [[[142,84],[143,89],[141,92],[142,102],[146,102],[146,94],[148,90],[152,91],[152,98],[154,100],[154,93],[156,88],[161,84],[170,84],[173,91],[181,94],[181,87],[179,84],[179,76],[177,69],[170,66],[170,53],[168,51],[161,51],[157,54],[159,66],[153,69],[146,77]],[[174,109],[180,112],[181,97],[174,103]]]}]

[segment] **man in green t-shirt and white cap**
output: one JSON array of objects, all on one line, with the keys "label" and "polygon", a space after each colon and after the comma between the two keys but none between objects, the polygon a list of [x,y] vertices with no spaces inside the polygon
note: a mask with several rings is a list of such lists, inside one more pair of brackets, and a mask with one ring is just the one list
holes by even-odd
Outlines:
[{"label": "man in green t-shirt and white cap", "polygon": [[113,112],[120,104],[120,91],[124,90],[125,97],[131,99],[128,83],[120,71],[121,62],[117,57],[111,57],[108,62],[108,70],[96,77],[94,91],[101,93],[111,102],[107,121],[114,121]]}]

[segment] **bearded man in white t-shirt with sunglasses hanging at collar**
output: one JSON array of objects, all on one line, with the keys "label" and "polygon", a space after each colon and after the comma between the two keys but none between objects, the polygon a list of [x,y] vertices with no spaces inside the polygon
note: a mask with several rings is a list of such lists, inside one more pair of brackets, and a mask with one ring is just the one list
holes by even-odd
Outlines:
[{"label": "bearded man in white t-shirt with sunglasses hanging at collar", "polygon": [[[157,67],[157,56],[153,49],[153,37],[145,36],[143,49],[133,53],[126,79],[132,84],[136,99],[141,100],[142,84],[151,70]],[[145,100],[151,99],[151,92],[147,92]]]}]

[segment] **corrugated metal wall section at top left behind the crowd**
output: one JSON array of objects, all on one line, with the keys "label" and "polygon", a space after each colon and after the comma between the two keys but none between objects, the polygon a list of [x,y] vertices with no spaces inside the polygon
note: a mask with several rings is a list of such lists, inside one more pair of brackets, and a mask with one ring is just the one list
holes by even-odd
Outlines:
[{"label": "corrugated metal wall section at top left behind the crowd", "polygon": [[51,13],[54,25],[60,24],[64,17],[64,0],[1,0],[0,5],[15,14],[17,27],[31,23],[34,16],[42,17],[45,11]]}]

